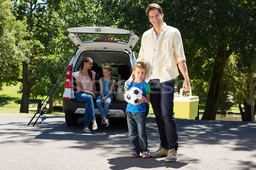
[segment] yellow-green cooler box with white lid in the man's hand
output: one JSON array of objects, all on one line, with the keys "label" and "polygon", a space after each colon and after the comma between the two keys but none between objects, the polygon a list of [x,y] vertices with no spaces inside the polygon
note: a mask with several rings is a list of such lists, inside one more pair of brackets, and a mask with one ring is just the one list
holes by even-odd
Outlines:
[{"label": "yellow-green cooler box with white lid in the man's hand", "polygon": [[174,113],[175,118],[190,119],[198,116],[198,96],[192,96],[191,88],[189,89],[189,96],[182,96],[182,90],[180,89],[180,97],[175,97]]}]

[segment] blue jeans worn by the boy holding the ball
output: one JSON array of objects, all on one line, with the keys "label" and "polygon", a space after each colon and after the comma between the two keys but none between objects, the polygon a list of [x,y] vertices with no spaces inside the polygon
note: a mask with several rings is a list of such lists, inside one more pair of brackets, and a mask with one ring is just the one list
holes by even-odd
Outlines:
[{"label": "blue jeans worn by the boy holding the ball", "polygon": [[148,138],[146,133],[146,113],[132,113],[126,111],[128,124],[128,137],[133,144],[132,152],[144,153],[148,150]]}]

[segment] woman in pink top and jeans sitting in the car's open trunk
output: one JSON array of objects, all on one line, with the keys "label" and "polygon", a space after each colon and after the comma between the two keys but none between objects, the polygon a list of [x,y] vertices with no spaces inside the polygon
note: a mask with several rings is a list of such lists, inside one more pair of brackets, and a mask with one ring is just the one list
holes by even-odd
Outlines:
[{"label": "woman in pink top and jeans sitting in the car's open trunk", "polygon": [[95,86],[95,72],[90,69],[93,66],[93,59],[85,57],[81,61],[81,70],[74,72],[72,75],[76,78],[77,92],[76,99],[79,102],[84,102],[85,112],[84,112],[84,132],[91,133],[89,130],[90,119],[93,122],[93,130],[98,129],[95,114],[93,99],[96,99],[96,95],[93,91],[96,92]]}]

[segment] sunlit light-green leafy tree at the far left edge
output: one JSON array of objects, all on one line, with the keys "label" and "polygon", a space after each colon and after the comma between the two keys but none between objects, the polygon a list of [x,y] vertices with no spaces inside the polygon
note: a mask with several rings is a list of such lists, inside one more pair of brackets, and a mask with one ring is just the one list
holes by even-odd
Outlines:
[{"label": "sunlit light-green leafy tree at the far left edge", "polygon": [[26,26],[12,14],[13,3],[0,0],[0,90],[4,83],[17,84],[20,78],[19,61],[23,59],[19,46],[26,36]]}]

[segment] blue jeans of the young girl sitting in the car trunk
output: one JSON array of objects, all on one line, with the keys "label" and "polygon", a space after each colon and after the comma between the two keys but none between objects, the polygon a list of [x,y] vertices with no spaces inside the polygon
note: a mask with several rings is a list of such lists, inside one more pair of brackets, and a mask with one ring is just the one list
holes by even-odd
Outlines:
[{"label": "blue jeans of the young girl sitting in the car trunk", "polygon": [[104,109],[102,107],[102,96],[99,95],[97,100],[96,100],[96,105],[97,105],[97,108],[99,109],[99,113],[100,113],[100,116],[103,117],[103,116],[106,116],[108,115],[108,110],[109,110],[109,106],[110,106],[110,103],[112,102],[113,100],[113,96],[108,96],[107,99],[105,99],[105,102],[104,102]]}]

